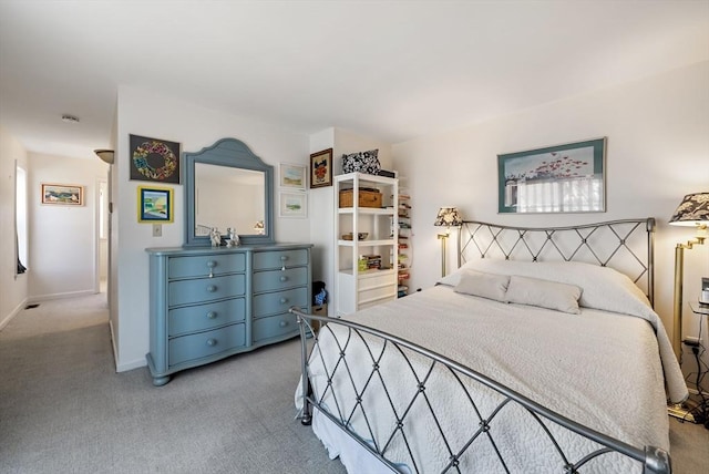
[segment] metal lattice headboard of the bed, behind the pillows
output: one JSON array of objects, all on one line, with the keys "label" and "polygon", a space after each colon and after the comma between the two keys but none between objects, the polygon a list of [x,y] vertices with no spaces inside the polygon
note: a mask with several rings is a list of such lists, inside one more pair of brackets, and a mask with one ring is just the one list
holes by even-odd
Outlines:
[{"label": "metal lattice headboard of the bed, behind the pillows", "polygon": [[655,218],[566,227],[515,227],[464,220],[458,266],[473,258],[583,261],[627,275],[655,303]]}]

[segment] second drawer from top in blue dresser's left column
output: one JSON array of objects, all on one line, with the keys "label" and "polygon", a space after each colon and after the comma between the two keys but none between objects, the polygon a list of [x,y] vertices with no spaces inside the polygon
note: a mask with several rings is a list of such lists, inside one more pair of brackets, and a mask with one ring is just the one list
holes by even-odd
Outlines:
[{"label": "second drawer from top in blue dresser's left column", "polygon": [[246,277],[244,275],[171,281],[167,286],[171,307],[244,296],[245,290]]}]

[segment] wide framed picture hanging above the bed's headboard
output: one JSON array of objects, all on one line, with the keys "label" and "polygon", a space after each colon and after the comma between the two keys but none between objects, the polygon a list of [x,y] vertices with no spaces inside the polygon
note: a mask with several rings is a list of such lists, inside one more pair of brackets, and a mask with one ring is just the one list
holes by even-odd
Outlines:
[{"label": "wide framed picture hanging above the bed's headboard", "polygon": [[605,156],[606,137],[497,155],[497,212],[605,212]]}]

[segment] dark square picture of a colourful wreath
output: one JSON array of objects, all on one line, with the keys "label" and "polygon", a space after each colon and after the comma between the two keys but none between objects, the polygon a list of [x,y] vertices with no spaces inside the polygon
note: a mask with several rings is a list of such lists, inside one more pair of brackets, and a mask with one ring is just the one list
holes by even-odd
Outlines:
[{"label": "dark square picture of a colourful wreath", "polygon": [[179,184],[179,143],[130,135],[131,179]]}]

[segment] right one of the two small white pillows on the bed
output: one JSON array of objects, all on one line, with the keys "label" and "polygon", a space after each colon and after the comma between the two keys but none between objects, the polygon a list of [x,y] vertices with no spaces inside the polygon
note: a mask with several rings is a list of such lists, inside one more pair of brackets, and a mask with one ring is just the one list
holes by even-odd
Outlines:
[{"label": "right one of the two small white pillows on the bed", "polygon": [[578,309],[579,297],[580,288],[574,285],[516,275],[510,277],[506,293],[507,302],[538,306],[572,315],[580,312]]}]

